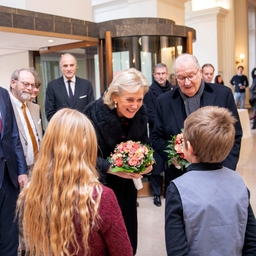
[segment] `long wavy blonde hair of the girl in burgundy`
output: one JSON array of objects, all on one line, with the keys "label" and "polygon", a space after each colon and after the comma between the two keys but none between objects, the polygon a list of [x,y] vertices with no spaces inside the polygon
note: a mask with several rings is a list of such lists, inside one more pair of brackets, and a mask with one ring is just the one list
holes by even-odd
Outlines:
[{"label": "long wavy blonde hair of the girl in burgundy", "polygon": [[97,139],[89,119],[76,110],[59,110],[46,129],[31,181],[17,203],[31,255],[76,255],[81,247],[74,216],[81,224],[84,255],[89,253],[88,237],[99,219],[102,192],[96,158]]}]

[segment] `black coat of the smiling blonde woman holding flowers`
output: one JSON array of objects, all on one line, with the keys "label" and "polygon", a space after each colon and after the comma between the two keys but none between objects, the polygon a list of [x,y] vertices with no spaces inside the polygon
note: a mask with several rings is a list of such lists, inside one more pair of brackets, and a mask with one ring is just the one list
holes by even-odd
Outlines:
[{"label": "black coat of the smiling blonde woman holding flowers", "polygon": [[[116,109],[109,109],[103,104],[102,98],[89,104],[85,114],[91,119],[98,141],[98,163],[100,174],[105,176],[105,184],[112,188],[121,208],[133,252],[137,249],[137,190],[131,179],[123,179],[116,175],[106,174],[109,163],[106,158],[114,151],[117,144],[122,142],[121,123]],[[144,106],[129,120],[130,126],[126,140],[148,143],[147,116]]]}]

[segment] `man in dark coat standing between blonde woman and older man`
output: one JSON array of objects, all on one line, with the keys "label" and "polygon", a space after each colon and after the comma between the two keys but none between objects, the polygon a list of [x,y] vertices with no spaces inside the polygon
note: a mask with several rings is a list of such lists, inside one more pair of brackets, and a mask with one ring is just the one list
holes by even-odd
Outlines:
[{"label": "man in dark coat standing between blonde woman and older man", "polygon": [[[155,122],[156,99],[159,95],[170,91],[172,88],[171,84],[167,80],[168,69],[165,64],[158,63],[154,67],[153,76],[154,81],[150,85],[149,91],[145,94],[143,100],[148,115],[150,140]],[[162,193],[162,177],[160,174],[166,170],[167,165],[164,159],[157,152],[154,152],[154,158],[156,163],[153,166],[153,172],[152,175],[149,176],[149,179],[152,187],[153,202],[156,206],[161,206],[160,196]]]}]

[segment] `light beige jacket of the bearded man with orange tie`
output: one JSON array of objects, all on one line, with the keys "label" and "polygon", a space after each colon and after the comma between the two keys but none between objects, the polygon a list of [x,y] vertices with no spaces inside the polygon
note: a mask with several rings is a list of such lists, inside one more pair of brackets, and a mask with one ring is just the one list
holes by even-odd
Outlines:
[{"label": "light beige jacket of the bearded man with orange tie", "polygon": [[[27,158],[28,138],[26,136],[25,129],[24,129],[24,126],[23,126],[22,121],[20,119],[20,115],[18,113],[17,107],[16,107],[16,105],[14,104],[14,102],[12,100],[11,100],[11,102],[12,102],[16,122],[17,122],[18,129],[19,129],[20,141],[21,141],[21,144],[22,144],[22,148],[23,148],[23,151],[24,151],[25,158]],[[40,143],[42,141],[42,137],[43,137],[42,124],[41,124],[42,122],[41,122],[41,117],[40,117],[40,106],[38,104],[35,104],[33,102],[30,102],[30,101],[26,101],[26,104],[27,104],[27,108],[29,109],[30,115],[33,119],[33,122],[34,122],[34,125],[35,125],[35,128],[36,128],[36,132],[37,132],[38,140],[39,140],[38,145],[40,145]]]}]

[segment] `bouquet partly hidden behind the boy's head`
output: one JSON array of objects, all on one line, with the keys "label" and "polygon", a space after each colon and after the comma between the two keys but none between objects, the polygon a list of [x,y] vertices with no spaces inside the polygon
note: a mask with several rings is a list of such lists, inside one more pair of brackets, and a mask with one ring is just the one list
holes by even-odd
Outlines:
[{"label": "bouquet partly hidden behind the boy's head", "polygon": [[171,140],[168,142],[167,150],[165,150],[168,153],[168,165],[173,164],[177,169],[184,171],[189,162],[185,159],[183,153],[183,130],[181,130],[181,133],[171,136]]}]

